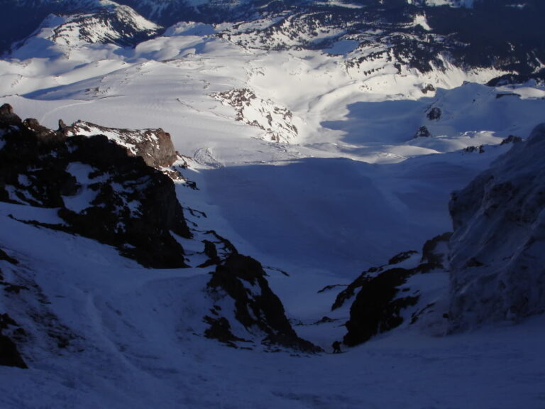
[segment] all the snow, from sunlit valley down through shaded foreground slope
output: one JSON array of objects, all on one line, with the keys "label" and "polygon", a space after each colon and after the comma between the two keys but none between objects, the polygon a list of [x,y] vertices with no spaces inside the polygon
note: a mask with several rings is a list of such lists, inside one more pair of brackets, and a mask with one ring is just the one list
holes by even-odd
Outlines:
[{"label": "all the snow, from sunlit valley down through shaded foreground slope", "polygon": [[[113,247],[21,222],[62,222],[55,209],[0,202],[0,249],[31,288],[0,298],[0,312],[9,300],[33,334],[48,320],[71,334],[67,348],[50,337],[21,347],[31,369],[0,366],[1,408],[545,408],[544,315],[457,334],[402,325],[329,354],[349,314],[331,312],[336,294],[452,230],[451,192],[509,151],[502,141],[544,121],[543,84],[487,87],[503,72],[448,60],[424,74],[386,57],[349,67],[370,50],[346,40],[324,50],[245,47],[216,36],[236,31],[228,23],[178,23],[136,48],[67,45],[53,36],[66,21],[49,18],[0,60],[0,104],[52,129],[62,119],[170,133],[198,187],[177,182],[177,197],[206,214],[186,216],[260,261],[299,337],[327,353],[207,339],[212,268],[143,268]],[[427,29],[424,15],[414,24]],[[81,165],[70,173],[86,178]],[[67,206],[84,209],[93,193]],[[184,244],[189,253],[202,251],[195,243]],[[0,268],[16,274],[7,261]],[[326,285],[340,287],[319,293]],[[429,285],[448,301],[446,275]],[[333,321],[317,324],[324,316]]]}]

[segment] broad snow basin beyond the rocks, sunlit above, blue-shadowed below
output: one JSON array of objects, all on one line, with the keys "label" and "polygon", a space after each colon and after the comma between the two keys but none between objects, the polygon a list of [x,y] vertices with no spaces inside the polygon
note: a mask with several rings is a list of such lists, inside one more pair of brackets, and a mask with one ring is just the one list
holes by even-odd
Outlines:
[{"label": "broad snow basin beyond the rocks, sunlit above, blue-shadowed below", "polygon": [[[463,84],[490,71],[396,75],[393,62],[377,61],[384,69],[367,77],[347,71],[341,55],[251,50],[219,30],[179,23],[134,49],[83,44],[67,58],[4,60],[2,92],[12,95],[3,100],[52,128],[81,119],[164,129],[202,165],[194,179],[224,236],[271,265],[280,257],[285,268],[343,276],[448,230],[450,191],[504,148],[460,150],[524,136],[545,104],[535,84]],[[226,92],[240,105],[214,97]],[[431,109],[441,117],[430,119]],[[414,138],[421,126],[431,137]],[[271,131],[288,143],[266,141]]]}]

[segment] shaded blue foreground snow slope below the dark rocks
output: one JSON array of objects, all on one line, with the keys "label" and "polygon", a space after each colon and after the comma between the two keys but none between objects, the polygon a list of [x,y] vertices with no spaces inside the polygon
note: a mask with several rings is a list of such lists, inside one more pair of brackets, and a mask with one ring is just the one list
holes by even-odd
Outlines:
[{"label": "shaded blue foreground snow slope below the dark rocks", "polygon": [[542,317],[517,331],[398,332],[338,356],[235,350],[193,334],[205,270],[142,269],[93,241],[6,219],[8,212],[23,216],[2,205],[2,248],[76,338],[68,349],[25,351],[35,356],[31,369],[0,367],[4,408],[541,407]]}]

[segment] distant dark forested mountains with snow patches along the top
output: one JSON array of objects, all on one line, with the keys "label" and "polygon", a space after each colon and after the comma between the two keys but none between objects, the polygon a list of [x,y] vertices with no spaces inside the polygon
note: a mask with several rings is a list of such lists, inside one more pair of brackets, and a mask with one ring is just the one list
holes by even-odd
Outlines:
[{"label": "distant dark forested mountains with snow patches along the top", "polygon": [[[441,6],[442,5],[442,6]],[[466,7],[459,7],[466,6]],[[470,7],[472,6],[472,7]],[[541,16],[545,4],[528,0],[482,1],[0,1],[0,49],[39,34],[51,13],[65,41],[136,45],[178,21],[270,21],[220,31],[248,48],[328,48],[338,40],[387,44],[401,63],[421,72],[449,59],[466,69],[495,67],[523,77],[539,75],[545,61]],[[70,38],[69,38],[70,37]],[[356,46],[356,45],[355,45]],[[17,47],[17,45],[15,45]],[[353,60],[351,64],[358,65]]]}]

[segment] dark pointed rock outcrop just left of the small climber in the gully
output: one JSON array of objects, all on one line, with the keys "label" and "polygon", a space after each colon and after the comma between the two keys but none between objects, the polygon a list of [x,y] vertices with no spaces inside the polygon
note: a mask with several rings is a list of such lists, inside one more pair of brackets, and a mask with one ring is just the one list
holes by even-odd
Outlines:
[{"label": "dark pointed rock outcrop just left of the small climber in the gully", "polygon": [[[236,346],[236,342],[250,344],[256,339],[266,345],[278,345],[306,352],[320,351],[319,347],[297,337],[285,315],[282,302],[270,290],[265,271],[258,261],[233,253],[225,263],[217,266],[208,283],[216,298],[212,316],[205,317],[211,326],[207,336]],[[243,325],[233,334],[234,322],[224,313],[228,308],[221,302],[234,302],[235,319]],[[248,339],[251,338],[251,339]],[[248,345],[247,344],[247,345]]]}]

